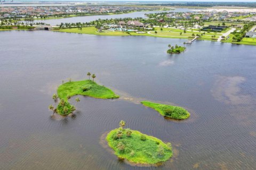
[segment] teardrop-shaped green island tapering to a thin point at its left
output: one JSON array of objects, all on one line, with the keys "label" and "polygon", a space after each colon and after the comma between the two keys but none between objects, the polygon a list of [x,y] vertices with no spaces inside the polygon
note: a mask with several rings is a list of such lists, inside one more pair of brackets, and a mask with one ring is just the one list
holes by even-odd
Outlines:
[{"label": "teardrop-shaped green island tapering to a thin point at its left", "polygon": [[174,118],[174,119],[186,119],[190,116],[189,112],[179,106],[170,106],[159,103],[152,103],[150,101],[141,101],[141,104],[150,108],[155,109],[161,115]]}]

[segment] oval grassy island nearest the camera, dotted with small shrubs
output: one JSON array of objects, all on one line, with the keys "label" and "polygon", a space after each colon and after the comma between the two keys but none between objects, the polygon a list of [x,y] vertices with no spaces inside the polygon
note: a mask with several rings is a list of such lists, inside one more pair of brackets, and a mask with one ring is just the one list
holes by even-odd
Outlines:
[{"label": "oval grassy island nearest the camera, dotted with small shrubs", "polygon": [[172,157],[171,143],[164,143],[139,131],[124,129],[124,121],[119,125],[120,128],[110,131],[106,137],[117,157],[142,165],[166,162]]}]

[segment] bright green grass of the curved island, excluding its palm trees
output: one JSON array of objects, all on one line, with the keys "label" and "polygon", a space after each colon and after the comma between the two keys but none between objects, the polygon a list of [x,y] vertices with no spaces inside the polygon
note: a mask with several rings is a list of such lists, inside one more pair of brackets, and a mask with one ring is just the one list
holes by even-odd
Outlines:
[{"label": "bright green grass of the curved island, excluding its palm trees", "polygon": [[112,90],[99,84],[92,82],[92,80],[70,81],[61,84],[58,87],[58,96],[60,99],[67,101],[68,97],[83,95],[100,99],[118,98]]}]

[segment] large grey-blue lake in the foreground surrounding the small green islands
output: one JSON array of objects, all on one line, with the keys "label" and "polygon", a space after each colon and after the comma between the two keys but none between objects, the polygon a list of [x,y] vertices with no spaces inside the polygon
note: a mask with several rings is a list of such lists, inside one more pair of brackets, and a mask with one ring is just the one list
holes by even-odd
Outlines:
[{"label": "large grey-blue lake in the foreground surrounding the small green islands", "polygon": [[[0,169],[254,169],[255,46],[184,39],[108,37],[52,31],[0,32]],[[51,118],[62,80],[86,79],[120,99],[80,96],[76,117]],[[75,103],[74,98],[70,99]],[[166,120],[140,100],[187,108],[185,121]],[[171,142],[159,167],[134,167],[101,145],[118,127]]]}]

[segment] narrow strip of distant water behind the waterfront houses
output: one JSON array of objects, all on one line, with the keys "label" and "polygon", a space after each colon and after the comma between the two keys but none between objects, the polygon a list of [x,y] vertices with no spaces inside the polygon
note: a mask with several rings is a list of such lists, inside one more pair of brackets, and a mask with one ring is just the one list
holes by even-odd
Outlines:
[{"label": "narrow strip of distant water behind the waterfront houses", "polygon": [[98,19],[113,19],[113,18],[146,18],[145,14],[147,13],[162,13],[162,12],[189,12],[192,9],[187,8],[175,8],[171,11],[139,11],[126,14],[117,14],[117,15],[93,15],[93,16],[77,16],[72,18],[63,18],[63,19],[53,19],[53,20],[35,20],[34,22],[44,22],[50,25],[57,25],[62,23],[76,23],[76,22],[90,22]]}]

